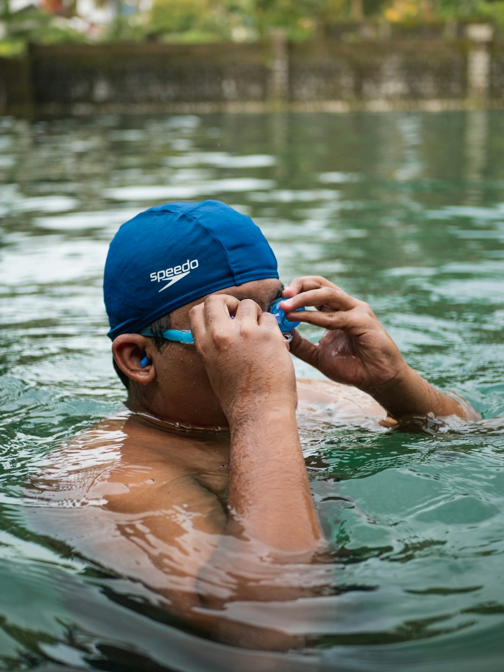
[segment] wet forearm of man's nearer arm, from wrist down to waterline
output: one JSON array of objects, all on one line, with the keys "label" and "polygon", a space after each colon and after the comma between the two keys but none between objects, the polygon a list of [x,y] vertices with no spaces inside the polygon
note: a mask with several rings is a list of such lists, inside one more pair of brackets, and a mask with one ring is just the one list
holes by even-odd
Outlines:
[{"label": "wet forearm of man's nearer arm, from wrist down to waterline", "polygon": [[245,536],[280,552],[312,552],[322,533],[294,407],[267,400],[231,419],[228,507]]}]

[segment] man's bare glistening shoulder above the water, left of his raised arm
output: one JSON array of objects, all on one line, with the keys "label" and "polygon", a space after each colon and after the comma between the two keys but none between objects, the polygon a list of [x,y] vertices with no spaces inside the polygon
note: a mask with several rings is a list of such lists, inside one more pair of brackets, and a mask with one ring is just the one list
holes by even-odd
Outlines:
[{"label": "man's bare glistening shoulder above the water, left of his raised arm", "polygon": [[[128,413],[106,417],[62,444],[26,484],[30,499],[58,506],[105,505],[115,511],[149,509],[169,491],[225,489],[227,456],[219,446],[132,421]],[[69,504],[70,505],[70,504]]]}]

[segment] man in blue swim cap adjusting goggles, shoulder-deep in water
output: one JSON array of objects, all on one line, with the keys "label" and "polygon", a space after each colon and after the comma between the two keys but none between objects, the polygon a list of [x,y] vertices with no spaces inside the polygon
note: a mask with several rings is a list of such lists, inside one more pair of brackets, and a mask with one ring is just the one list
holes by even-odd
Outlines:
[{"label": "man in blue swim cap adjusting goggles, shoulder-deep in water", "polygon": [[[323,533],[298,423],[474,411],[407,366],[368,304],[318,276],[283,288],[259,228],[220,202],[126,222],[104,295],[127,411],[76,437],[40,482],[73,503],[48,510],[50,534],[202,631],[292,646],[280,607],[258,618],[253,605],[323,585],[300,578],[317,575]],[[319,343],[297,331],[288,343],[267,312],[278,298],[287,319],[326,329]],[[333,382],[296,383],[289,349]]]}]

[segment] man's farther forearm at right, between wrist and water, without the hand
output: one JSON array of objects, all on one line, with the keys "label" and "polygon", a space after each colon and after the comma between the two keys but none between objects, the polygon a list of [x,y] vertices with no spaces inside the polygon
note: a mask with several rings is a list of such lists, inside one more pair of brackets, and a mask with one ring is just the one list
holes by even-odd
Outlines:
[{"label": "man's farther forearm at right, between wrist and water, without the hand", "polygon": [[462,398],[439,392],[415,370],[407,366],[387,384],[366,390],[396,420],[413,416],[458,417],[477,420],[478,413]]}]

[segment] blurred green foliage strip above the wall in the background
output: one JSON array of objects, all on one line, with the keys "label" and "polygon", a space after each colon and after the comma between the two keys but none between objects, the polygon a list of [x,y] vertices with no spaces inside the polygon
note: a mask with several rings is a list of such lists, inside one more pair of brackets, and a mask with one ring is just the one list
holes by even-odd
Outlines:
[{"label": "blurred green foliage strip above the wall in the background", "polygon": [[[9,11],[0,0],[4,36],[0,55],[19,52],[27,42],[140,41],[215,42],[257,40],[273,28],[283,28],[291,40],[317,36],[327,24],[349,20],[429,21],[486,19],[504,30],[504,0],[153,0],[150,11],[125,11],[138,0],[95,0],[111,4],[109,26],[85,30],[73,22],[75,3],[67,0],[66,15],[31,7]],[[0,32],[1,34],[1,32]]]}]

